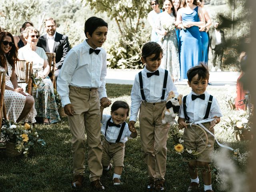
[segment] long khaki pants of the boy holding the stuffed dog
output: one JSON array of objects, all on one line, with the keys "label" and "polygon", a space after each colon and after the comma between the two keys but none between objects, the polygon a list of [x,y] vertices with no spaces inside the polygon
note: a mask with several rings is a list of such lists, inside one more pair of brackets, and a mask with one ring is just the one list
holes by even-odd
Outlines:
[{"label": "long khaki pants of the boy holding the stuffed dog", "polygon": [[166,140],[170,126],[162,124],[162,112],[166,102],[140,105],[140,138],[143,159],[147,164],[148,176],[164,179],[166,173]]}]

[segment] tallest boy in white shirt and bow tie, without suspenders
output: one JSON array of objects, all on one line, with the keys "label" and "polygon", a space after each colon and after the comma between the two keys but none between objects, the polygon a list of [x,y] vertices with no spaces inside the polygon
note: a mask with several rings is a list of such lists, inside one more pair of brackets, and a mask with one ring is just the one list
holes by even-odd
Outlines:
[{"label": "tallest boy in white shirt and bow tie, without suspenders", "polygon": [[84,181],[86,131],[90,182],[96,190],[102,191],[105,188],[100,182],[100,105],[108,107],[111,102],[105,88],[107,56],[101,46],[106,41],[108,24],[101,18],[90,17],[84,24],[84,33],[87,39],[72,48],[64,60],[57,80],[57,90],[73,136],[74,178],[71,187],[80,190]]}]

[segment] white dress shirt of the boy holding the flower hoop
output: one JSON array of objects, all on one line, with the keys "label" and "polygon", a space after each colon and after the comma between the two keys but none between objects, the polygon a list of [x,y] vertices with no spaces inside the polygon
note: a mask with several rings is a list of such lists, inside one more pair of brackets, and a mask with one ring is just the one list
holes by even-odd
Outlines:
[{"label": "white dress shirt of the boy holding the flower hoop", "polygon": [[[189,117],[189,122],[196,122],[204,119],[210,94],[208,94],[208,92],[204,92],[205,94],[204,100],[200,98],[196,98],[194,101],[192,101],[192,94],[198,95],[193,91],[191,91],[190,94],[188,94],[186,98],[186,113]],[[183,110],[183,98],[182,98],[182,105],[180,106],[180,112],[178,116],[181,118],[185,118],[184,110]],[[213,118],[214,116],[222,117],[222,113],[221,113],[218,101],[215,97],[212,98],[212,105],[211,105],[210,113],[208,117]]]}]

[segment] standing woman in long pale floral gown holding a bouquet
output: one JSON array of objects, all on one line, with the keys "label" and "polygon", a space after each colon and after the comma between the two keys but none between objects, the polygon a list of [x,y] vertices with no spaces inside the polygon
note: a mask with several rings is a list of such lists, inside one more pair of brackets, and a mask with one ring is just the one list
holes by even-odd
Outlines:
[{"label": "standing woman in long pale floral gown holding a bouquet", "polygon": [[172,0],[164,1],[164,12],[158,14],[156,32],[162,36],[163,58],[161,67],[170,71],[172,80],[180,78],[180,62],[178,54],[178,40],[175,31],[176,14]]}]

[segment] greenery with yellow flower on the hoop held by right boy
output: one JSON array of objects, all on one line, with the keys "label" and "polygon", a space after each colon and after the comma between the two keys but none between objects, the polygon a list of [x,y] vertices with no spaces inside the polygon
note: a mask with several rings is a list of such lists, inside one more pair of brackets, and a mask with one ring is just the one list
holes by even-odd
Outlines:
[{"label": "greenery with yellow flower on the hoop held by right boy", "polygon": [[182,131],[178,130],[175,126],[172,126],[170,129],[170,134],[174,142],[176,142],[176,144],[174,145],[174,150],[176,151],[176,153],[180,154],[183,158],[186,158],[187,160],[194,160],[200,156],[197,151],[188,149],[184,146]]}]

